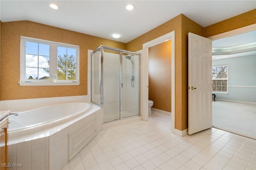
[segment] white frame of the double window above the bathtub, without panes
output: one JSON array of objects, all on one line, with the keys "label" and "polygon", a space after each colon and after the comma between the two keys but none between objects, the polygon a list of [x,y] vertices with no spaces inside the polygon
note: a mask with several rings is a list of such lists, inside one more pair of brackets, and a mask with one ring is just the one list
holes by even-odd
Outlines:
[{"label": "white frame of the double window above the bathtub, without panes", "polygon": [[[49,77],[47,80],[28,80],[26,79],[26,42],[43,43],[50,45],[50,65]],[[57,75],[57,58],[58,46],[76,49],[76,80],[58,80]],[[47,86],[47,85],[79,85],[79,46],[66,43],[58,43],[35,38],[20,37],[20,82],[21,86]]]}]

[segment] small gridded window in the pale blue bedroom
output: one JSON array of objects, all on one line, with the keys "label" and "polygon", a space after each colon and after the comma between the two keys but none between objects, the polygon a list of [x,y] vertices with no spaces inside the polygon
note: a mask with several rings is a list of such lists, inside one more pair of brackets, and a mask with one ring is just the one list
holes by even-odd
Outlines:
[{"label": "small gridded window in the pale blue bedroom", "polygon": [[228,65],[212,67],[212,91],[228,92]]}]

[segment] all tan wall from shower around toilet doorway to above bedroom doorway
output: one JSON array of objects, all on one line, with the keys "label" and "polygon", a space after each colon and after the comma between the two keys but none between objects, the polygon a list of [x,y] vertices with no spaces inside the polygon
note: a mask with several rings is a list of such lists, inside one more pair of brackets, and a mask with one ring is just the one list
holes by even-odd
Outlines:
[{"label": "all tan wall from shower around toilet doorway to above bedroom doorway", "polygon": [[206,28],[183,14],[139,36],[126,44],[126,49],[138,51],[149,42],[175,30],[175,128],[188,128],[188,32],[209,37],[256,23],[256,10],[234,16]]}]

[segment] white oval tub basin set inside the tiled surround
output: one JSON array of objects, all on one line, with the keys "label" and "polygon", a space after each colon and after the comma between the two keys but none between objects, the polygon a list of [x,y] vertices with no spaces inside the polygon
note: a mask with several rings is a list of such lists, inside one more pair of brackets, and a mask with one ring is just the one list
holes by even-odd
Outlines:
[{"label": "white oval tub basin set inside the tiled surround", "polygon": [[89,103],[65,103],[21,112],[18,116],[10,116],[9,140],[47,132],[48,129],[63,125],[85,114],[90,107]]}]

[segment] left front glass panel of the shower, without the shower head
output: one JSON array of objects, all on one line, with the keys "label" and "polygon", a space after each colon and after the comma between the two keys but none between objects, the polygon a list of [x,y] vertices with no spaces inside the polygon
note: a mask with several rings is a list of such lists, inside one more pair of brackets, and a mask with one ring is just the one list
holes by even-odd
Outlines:
[{"label": "left front glass panel of the shower, without the shower head", "polygon": [[104,123],[120,119],[120,52],[103,51]]}]

